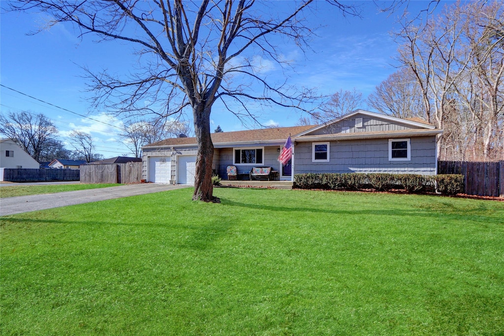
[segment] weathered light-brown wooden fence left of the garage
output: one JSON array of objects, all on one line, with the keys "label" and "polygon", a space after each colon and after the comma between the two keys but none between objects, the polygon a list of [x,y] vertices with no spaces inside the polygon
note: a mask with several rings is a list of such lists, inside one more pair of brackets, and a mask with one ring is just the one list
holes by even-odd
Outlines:
[{"label": "weathered light-brown wooden fence left of the garage", "polygon": [[81,183],[138,183],[141,179],[142,162],[81,166]]}]

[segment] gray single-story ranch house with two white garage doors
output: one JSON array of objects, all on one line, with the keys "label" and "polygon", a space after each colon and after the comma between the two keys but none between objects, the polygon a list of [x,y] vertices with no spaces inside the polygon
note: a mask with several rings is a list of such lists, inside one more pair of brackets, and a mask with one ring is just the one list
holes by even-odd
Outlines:
[{"label": "gray single-story ranch house with two white garage doors", "polygon": [[[300,173],[412,173],[435,175],[436,136],[443,130],[419,118],[400,119],[355,110],[315,126],[212,133],[213,169],[223,179],[226,167],[238,173],[270,166],[281,180]],[[291,136],[293,159],[277,161]],[[196,138],[173,138],[142,147],[143,177],[151,182],[194,184]]]}]

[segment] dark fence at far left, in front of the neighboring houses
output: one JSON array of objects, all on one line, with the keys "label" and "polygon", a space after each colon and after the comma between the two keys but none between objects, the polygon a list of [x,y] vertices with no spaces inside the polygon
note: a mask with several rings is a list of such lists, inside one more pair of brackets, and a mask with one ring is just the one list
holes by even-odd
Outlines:
[{"label": "dark fence at far left, in front of the neighboring houses", "polygon": [[2,168],[3,181],[79,181],[79,169]]}]

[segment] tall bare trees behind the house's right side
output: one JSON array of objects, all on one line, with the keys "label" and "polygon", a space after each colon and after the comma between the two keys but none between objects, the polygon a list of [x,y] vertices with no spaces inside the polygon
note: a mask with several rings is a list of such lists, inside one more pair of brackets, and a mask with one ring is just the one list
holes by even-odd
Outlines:
[{"label": "tall bare trees behind the house's right side", "polygon": [[504,159],[504,19],[502,2],[445,6],[439,14],[403,19],[393,33],[398,70],[362,94],[336,92],[320,112],[299,124],[318,123],[369,108],[400,118],[420,117],[442,128],[442,160]]}]

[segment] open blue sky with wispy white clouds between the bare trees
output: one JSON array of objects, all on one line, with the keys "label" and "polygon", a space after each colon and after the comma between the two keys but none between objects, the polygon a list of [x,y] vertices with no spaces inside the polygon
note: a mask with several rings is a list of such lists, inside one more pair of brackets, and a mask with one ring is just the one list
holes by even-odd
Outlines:
[{"label": "open blue sky with wispy white clouds between the bare trees", "polygon": [[[409,11],[417,13],[429,2],[411,2]],[[288,2],[279,3],[289,5]],[[282,53],[295,61],[295,72],[289,72],[289,84],[317,88],[322,94],[340,89],[362,92],[367,97],[376,85],[396,71],[397,45],[389,35],[396,29],[392,16],[378,14],[372,2],[361,2],[362,19],[343,18],[336,8],[318,3],[322,10],[308,15],[310,25],[321,27],[310,43],[312,50],[302,53],[293,44],[282,44]],[[81,66],[93,71],[108,69],[123,73],[137,63],[132,48],[124,42],[93,43],[92,38],[77,38],[70,25],[57,25],[49,31],[27,35],[44,23],[43,14],[5,13],[0,16],[0,82],[26,95],[43,100],[92,119],[52,107],[20,93],[0,87],[0,110],[30,110],[48,116],[60,131],[60,137],[73,129],[91,133],[97,152],[105,157],[127,154],[117,133],[120,118],[103,111],[90,110],[86,101],[86,81]],[[265,75],[283,81],[285,75],[276,65],[265,64]],[[365,104],[362,108],[366,108]],[[300,114],[292,109],[257,109],[261,122],[280,126],[294,125]],[[97,122],[102,121],[109,125]],[[211,115],[212,131],[220,125],[224,131],[246,126],[222,105],[215,104]],[[112,127],[110,125],[116,126]],[[70,146],[68,146],[70,148]]]}]

